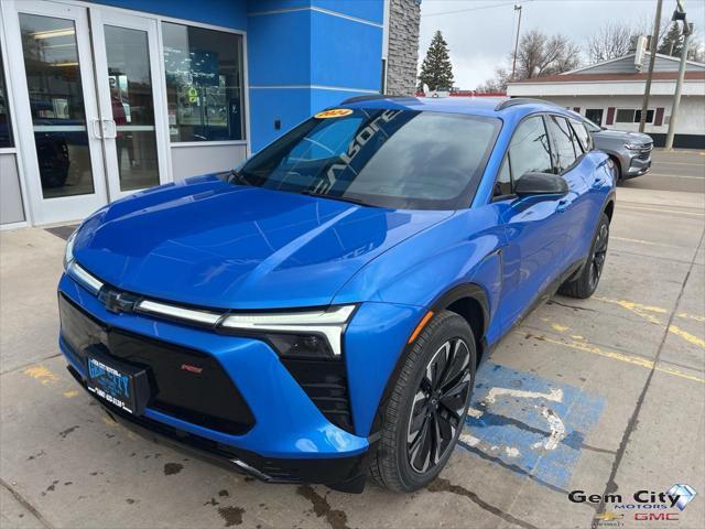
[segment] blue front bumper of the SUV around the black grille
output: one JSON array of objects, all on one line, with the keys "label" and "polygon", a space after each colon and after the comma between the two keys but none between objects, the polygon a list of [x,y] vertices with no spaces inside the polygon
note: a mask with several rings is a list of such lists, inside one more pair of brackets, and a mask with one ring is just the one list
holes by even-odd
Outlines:
[{"label": "blue front bumper of the SUV around the black grille", "polygon": [[[188,415],[171,413],[163,407],[148,403],[144,413],[134,417],[100,400],[116,419],[206,452],[209,458],[215,457],[260,479],[303,481],[346,492],[361,490],[368,456],[373,453],[369,441],[376,438],[371,433],[372,421],[398,358],[389,352],[402,350],[417,311],[384,303],[364,304],[358,311],[359,317],[350,323],[346,332],[345,368],[355,428],[346,431],[324,417],[282,359],[264,342],[135,313],[109,312],[96,295],[68,276],[62,277],[58,290],[59,296],[106,330],[196,350],[214,359],[231,380],[253,418],[246,421],[241,430],[217,425],[208,428],[196,420],[200,418],[191,420]],[[387,322],[386,325],[380,325],[380,321]],[[68,360],[69,370],[85,387],[86,365],[65,339],[64,333],[63,328],[61,350]],[[354,355],[349,354],[350,349],[355,350]],[[163,354],[169,355],[169,352]],[[124,355],[120,352],[122,359]],[[232,398],[230,395],[224,397],[226,402]]]}]

